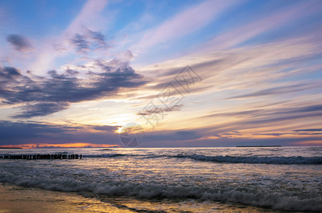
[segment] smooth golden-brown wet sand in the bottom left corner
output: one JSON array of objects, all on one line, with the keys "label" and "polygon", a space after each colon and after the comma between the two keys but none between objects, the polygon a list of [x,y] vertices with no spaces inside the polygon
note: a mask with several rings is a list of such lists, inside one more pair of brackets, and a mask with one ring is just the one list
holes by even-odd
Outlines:
[{"label": "smooth golden-brown wet sand in the bottom left corner", "polygon": [[2,212],[132,212],[71,192],[0,184]]}]

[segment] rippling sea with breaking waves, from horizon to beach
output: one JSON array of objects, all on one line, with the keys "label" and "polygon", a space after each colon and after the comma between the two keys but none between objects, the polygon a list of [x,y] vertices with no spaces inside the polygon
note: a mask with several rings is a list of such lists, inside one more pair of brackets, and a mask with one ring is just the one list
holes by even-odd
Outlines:
[{"label": "rippling sea with breaking waves, from horizon to beach", "polygon": [[133,212],[322,212],[322,147],[34,148],[0,155],[0,182],[78,192]]}]

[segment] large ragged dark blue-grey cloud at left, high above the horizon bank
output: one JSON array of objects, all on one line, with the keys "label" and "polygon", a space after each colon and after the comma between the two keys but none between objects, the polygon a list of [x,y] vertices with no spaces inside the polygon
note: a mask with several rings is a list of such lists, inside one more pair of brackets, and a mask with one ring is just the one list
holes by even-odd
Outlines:
[{"label": "large ragged dark blue-grey cloud at left, high above the horizon bank", "polygon": [[61,74],[51,70],[49,77],[38,77],[31,72],[28,76],[21,75],[13,67],[0,67],[1,102],[25,104],[14,118],[31,118],[67,109],[69,103],[108,97],[117,94],[120,88],[135,88],[147,83],[128,63],[112,61],[101,61],[105,70],[89,71],[85,77],[79,77],[77,70],[66,70]]}]

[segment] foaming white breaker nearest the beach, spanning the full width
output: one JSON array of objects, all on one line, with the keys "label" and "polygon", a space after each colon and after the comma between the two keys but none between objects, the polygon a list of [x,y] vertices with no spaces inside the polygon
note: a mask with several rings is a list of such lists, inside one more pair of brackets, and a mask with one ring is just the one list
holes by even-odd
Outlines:
[{"label": "foaming white breaker nearest the beach, spanning the full width", "polygon": [[96,195],[130,196],[148,199],[212,200],[291,211],[317,212],[322,209],[321,196],[300,197],[295,192],[274,192],[251,186],[217,185],[214,187],[200,187],[195,185],[162,185],[115,180],[84,182],[66,177],[26,177],[6,172],[0,174],[0,182],[9,182],[24,187],[40,187],[44,190],[93,192]]}]

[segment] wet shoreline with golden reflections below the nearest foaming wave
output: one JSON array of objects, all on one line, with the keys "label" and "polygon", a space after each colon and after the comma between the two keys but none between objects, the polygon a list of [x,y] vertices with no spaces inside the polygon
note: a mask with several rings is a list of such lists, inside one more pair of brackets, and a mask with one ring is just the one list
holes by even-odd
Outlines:
[{"label": "wet shoreline with golden reflections below the nearest foaming wave", "polygon": [[[95,195],[94,195],[95,196]],[[274,209],[224,202],[192,200],[133,200],[130,197],[93,197],[78,192],[58,192],[38,187],[0,183],[0,212],[284,212]]]}]

